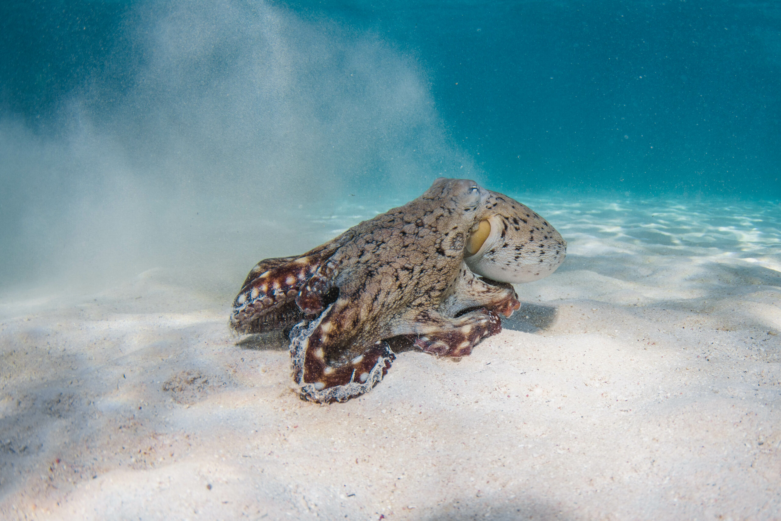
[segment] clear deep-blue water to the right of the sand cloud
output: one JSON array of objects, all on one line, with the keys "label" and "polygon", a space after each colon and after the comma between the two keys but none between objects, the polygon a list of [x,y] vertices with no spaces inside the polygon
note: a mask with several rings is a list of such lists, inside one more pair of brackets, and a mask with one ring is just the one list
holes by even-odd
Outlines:
[{"label": "clear deep-blue water to the right of the sand cloud", "polygon": [[509,187],[781,194],[774,2],[333,10],[415,55],[454,140]]}]

